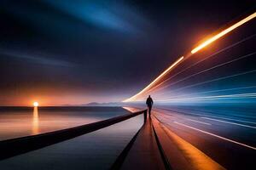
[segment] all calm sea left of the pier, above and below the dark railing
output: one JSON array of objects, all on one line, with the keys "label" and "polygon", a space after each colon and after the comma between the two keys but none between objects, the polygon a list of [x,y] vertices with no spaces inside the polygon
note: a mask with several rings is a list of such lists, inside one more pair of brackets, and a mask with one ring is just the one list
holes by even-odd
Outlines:
[{"label": "all calm sea left of the pier, above and below the dark railing", "polygon": [[[0,139],[97,122],[129,113],[120,107],[1,108]],[[0,161],[0,169],[109,169],[143,125],[143,115]]]}]

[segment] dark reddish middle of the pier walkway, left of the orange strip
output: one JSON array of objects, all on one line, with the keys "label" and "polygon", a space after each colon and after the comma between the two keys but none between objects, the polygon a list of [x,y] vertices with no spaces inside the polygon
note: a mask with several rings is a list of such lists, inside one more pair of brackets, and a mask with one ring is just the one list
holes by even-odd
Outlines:
[{"label": "dark reddish middle of the pier walkway, left of the orange strip", "polygon": [[154,131],[151,117],[127,144],[112,169],[172,169]]}]

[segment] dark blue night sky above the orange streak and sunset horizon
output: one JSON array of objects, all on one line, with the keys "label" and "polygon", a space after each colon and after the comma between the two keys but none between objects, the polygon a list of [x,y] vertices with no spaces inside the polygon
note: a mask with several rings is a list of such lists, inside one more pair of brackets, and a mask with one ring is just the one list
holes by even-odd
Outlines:
[{"label": "dark blue night sky above the orange streak and sunset horizon", "polygon": [[0,105],[131,97],[255,1],[0,3]]}]

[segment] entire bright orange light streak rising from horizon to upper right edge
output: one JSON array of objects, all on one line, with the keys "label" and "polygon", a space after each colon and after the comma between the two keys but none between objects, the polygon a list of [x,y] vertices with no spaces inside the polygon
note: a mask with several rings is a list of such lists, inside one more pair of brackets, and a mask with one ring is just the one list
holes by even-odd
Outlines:
[{"label": "entire bright orange light streak rising from horizon to upper right edge", "polygon": [[[198,46],[197,48],[194,48],[194,49],[191,51],[191,53],[192,53],[192,54],[195,54],[195,53],[196,53],[198,50],[200,50],[201,48],[206,47],[208,44],[210,44],[210,43],[216,41],[219,37],[223,37],[223,36],[224,36],[225,34],[227,34],[228,32],[233,31],[233,30],[236,29],[238,26],[243,25],[244,23],[246,23],[246,22],[249,21],[249,20],[253,20],[253,18],[255,18],[255,17],[256,17],[256,13],[253,13],[253,14],[247,16],[247,18],[245,18],[245,19],[243,19],[243,20],[237,22],[235,25],[230,26],[229,28],[225,29],[224,31],[221,31],[218,35],[216,35],[216,36],[210,38],[209,40],[207,40],[207,42],[204,42],[204,43],[202,43],[200,46]],[[185,57],[187,58],[187,57],[189,57],[189,56],[190,56],[190,55],[185,56]],[[181,58],[177,59],[177,61],[176,61],[175,63],[173,63],[170,67],[168,67],[168,68],[166,69],[166,71],[162,72],[159,77],[156,77],[153,82],[150,82],[146,88],[143,88],[143,90],[141,90],[139,93],[137,93],[137,94],[131,96],[131,98],[129,98],[129,99],[123,100],[122,102],[131,102],[131,101],[134,101],[135,99],[137,99],[137,96],[139,96],[140,94],[145,93],[145,92],[146,92],[148,89],[150,89],[156,82],[159,82],[160,79],[161,79],[162,77],[164,77],[167,72],[171,71],[172,68],[174,68],[174,66],[176,66],[177,64],[180,64],[183,59],[184,59],[184,56],[182,56]]]}]

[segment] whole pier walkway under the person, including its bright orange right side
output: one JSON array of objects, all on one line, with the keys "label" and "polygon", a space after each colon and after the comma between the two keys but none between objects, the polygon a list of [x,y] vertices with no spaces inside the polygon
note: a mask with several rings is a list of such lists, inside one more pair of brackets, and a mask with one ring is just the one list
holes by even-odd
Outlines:
[{"label": "whole pier walkway under the person, including its bright orange right side", "polygon": [[151,116],[138,133],[120,169],[224,170],[225,168],[170,131],[156,116]]}]

